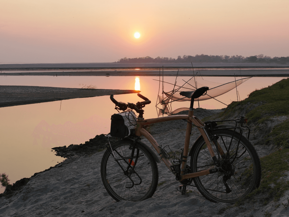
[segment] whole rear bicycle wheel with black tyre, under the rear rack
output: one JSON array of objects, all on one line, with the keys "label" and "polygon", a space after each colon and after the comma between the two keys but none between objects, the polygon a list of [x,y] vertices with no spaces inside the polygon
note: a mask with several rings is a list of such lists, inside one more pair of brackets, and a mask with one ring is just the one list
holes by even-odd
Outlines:
[{"label": "whole rear bicycle wheel with black tyre, under the rear rack", "polygon": [[[253,145],[240,133],[229,129],[216,129],[214,136],[221,145],[226,158],[217,154],[215,144],[212,144],[221,171],[193,178],[199,192],[212,202],[235,203],[255,188],[261,181],[261,163]],[[230,141],[231,146],[229,146]],[[238,146],[238,141],[240,143]],[[203,138],[192,147],[190,160],[192,172],[216,168]],[[229,149],[229,150],[228,150]],[[236,158],[235,158],[236,157]],[[230,175],[228,175],[230,173]],[[229,190],[226,190],[226,186]]]}]

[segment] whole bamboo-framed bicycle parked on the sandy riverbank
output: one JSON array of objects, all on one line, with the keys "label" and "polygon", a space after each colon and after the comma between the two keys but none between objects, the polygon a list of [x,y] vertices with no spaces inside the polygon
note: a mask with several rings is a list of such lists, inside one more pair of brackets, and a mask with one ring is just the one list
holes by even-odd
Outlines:
[{"label": "whole bamboo-framed bicycle parked on the sandy riverbank", "polygon": [[[127,135],[127,130],[123,130],[122,122],[114,121],[117,129],[112,127],[111,134],[114,131],[115,137],[122,139],[110,144],[108,137],[106,143],[107,149],[101,161],[101,178],[105,189],[114,200],[142,201],[153,196],[158,186],[157,163],[160,163],[160,159],[181,183],[177,190],[183,195],[186,194],[186,186],[194,181],[195,187],[206,199],[212,202],[235,203],[259,187],[261,164],[255,148],[249,142],[250,129],[243,126],[247,119],[241,116],[240,119],[203,123],[193,116],[194,99],[206,94],[208,89],[201,87],[195,91],[180,92],[182,96],[191,98],[188,115],[150,119],[143,118],[142,108],[151,103],[146,97],[138,94],[143,102],[126,104],[116,101],[113,95],[110,95],[117,110],[127,111],[128,114],[135,110],[139,114],[137,118],[128,118],[129,122],[135,125],[135,130],[127,137],[117,135],[123,135],[123,132]],[[144,125],[169,120],[187,122],[185,144],[179,156],[169,147],[158,145],[153,136],[143,128]],[[234,124],[231,124],[232,121]],[[199,129],[201,136],[188,152],[192,125]],[[242,135],[244,130],[248,131],[247,138]],[[140,136],[147,138],[159,157],[150,146],[141,141]],[[189,156],[190,165],[187,165]]]}]

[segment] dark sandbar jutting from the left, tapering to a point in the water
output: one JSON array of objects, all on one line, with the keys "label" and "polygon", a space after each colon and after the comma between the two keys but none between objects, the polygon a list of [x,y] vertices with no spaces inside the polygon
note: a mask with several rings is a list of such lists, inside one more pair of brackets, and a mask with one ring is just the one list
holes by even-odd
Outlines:
[{"label": "dark sandbar jutting from the left, tapering to a point in the water", "polygon": [[140,91],[39,86],[0,86],[0,107],[138,92]]}]

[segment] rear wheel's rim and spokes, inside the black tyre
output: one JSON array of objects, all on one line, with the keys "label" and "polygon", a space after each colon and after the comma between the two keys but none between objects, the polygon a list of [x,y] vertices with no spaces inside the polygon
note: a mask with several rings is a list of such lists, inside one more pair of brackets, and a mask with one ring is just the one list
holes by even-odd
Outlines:
[{"label": "rear wheel's rim and spokes, inside the black tyre", "polygon": [[[219,137],[217,140],[218,143],[221,145],[225,154],[227,154],[232,135],[219,133],[217,136]],[[235,155],[237,147],[238,152],[237,155]],[[212,148],[214,152],[217,153],[216,147],[212,146]],[[194,154],[196,155],[194,157],[196,160],[192,165],[194,171],[215,168],[214,161],[206,148],[205,142],[198,147],[198,150]],[[221,156],[216,157],[219,160],[222,159]],[[221,171],[194,179],[196,185],[199,185],[207,197],[215,202],[234,203],[239,198],[251,192],[254,188],[255,162],[245,142],[241,140],[238,146],[238,139],[233,138],[229,150],[229,157],[227,160],[220,161],[220,163]],[[227,187],[229,187],[231,192],[229,192]]]}]

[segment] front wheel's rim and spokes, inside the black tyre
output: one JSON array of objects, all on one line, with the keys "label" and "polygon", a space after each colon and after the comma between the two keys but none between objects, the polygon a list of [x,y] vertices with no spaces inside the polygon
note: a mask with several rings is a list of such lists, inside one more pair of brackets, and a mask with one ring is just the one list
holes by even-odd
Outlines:
[{"label": "front wheel's rim and spokes, inside the black tyre", "polygon": [[[116,159],[131,157],[130,144],[121,144],[114,147],[114,156]],[[138,158],[136,152],[139,150]],[[153,169],[151,162],[146,153],[138,147],[134,152],[135,158],[131,164],[135,164],[134,168],[130,166],[127,172],[129,159],[116,161],[112,154],[108,155],[105,161],[107,187],[118,200],[141,201],[147,198],[150,193],[153,182]],[[120,164],[118,164],[118,163]]]}]

